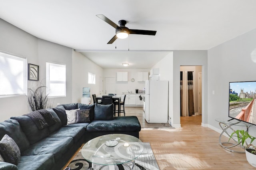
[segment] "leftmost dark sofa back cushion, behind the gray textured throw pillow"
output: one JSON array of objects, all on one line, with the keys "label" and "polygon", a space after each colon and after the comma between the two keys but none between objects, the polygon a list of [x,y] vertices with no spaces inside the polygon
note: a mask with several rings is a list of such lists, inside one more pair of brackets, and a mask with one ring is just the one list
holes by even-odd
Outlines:
[{"label": "leftmost dark sofa back cushion, behind the gray textured throw pillow", "polygon": [[29,147],[29,141],[17,120],[8,119],[0,123],[0,139],[8,134],[19,146],[20,152]]}]

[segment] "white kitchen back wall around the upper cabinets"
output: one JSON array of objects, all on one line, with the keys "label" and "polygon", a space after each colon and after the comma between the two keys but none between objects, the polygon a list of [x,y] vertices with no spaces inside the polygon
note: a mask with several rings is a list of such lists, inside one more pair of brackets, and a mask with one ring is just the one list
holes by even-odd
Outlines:
[{"label": "white kitchen back wall around the upper cabinets", "polygon": [[[116,72],[127,71],[128,72],[128,82],[116,82],[116,94],[122,95],[122,92],[128,93],[132,91],[135,93],[135,89],[144,90],[145,82],[138,82],[137,73],[139,71],[147,71],[149,75],[150,69],[104,69],[104,77],[116,77]],[[132,82],[131,79],[134,78],[135,81]]]}]

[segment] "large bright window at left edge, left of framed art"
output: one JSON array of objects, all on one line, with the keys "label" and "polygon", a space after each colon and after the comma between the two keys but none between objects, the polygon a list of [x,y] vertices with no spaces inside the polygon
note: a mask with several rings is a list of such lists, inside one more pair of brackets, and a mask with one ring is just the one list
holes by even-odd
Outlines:
[{"label": "large bright window at left edge, left of framed art", "polygon": [[26,93],[27,59],[0,51],[0,97]]}]

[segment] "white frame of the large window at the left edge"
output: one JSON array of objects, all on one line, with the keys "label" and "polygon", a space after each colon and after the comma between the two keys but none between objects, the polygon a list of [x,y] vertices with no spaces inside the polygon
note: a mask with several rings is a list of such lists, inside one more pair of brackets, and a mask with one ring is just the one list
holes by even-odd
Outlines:
[{"label": "white frame of the large window at the left edge", "polygon": [[[16,55],[16,54],[13,54],[13,53],[8,53],[8,52],[5,52],[5,51],[1,51],[0,50],[0,55],[2,57],[7,57],[7,58],[11,58],[11,59],[16,59],[17,61],[22,61],[23,62],[23,73],[22,73],[22,77],[23,77],[23,82],[22,82],[22,86],[23,86],[23,89],[22,89],[22,93],[17,93],[17,94],[4,94],[4,95],[1,95],[0,94],[0,98],[4,98],[4,97],[16,97],[16,96],[26,96],[27,93],[28,93],[28,61],[27,61],[27,58],[26,57],[22,57],[20,55]],[[0,73],[1,74],[1,73]],[[0,80],[1,81],[1,80]],[[1,88],[1,87],[0,87]]]}]

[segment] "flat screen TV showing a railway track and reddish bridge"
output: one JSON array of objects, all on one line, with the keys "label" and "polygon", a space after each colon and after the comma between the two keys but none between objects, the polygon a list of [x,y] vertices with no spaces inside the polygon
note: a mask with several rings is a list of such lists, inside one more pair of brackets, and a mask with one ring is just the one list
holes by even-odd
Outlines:
[{"label": "flat screen TV showing a railway track and reddish bridge", "polygon": [[256,125],[256,81],[229,83],[228,117]]}]

